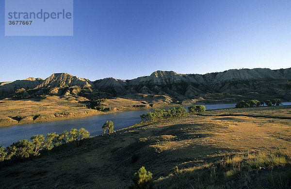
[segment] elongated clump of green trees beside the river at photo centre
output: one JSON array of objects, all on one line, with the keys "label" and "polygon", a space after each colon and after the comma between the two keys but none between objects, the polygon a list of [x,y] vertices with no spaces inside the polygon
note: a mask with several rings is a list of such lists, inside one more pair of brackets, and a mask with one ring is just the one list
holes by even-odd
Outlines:
[{"label": "elongated clump of green trees beside the river at photo centre", "polygon": [[160,119],[165,119],[169,117],[181,117],[186,114],[186,109],[184,107],[169,108],[167,110],[155,109],[152,112],[147,112],[146,114],[140,115],[141,122],[155,122]]}]

